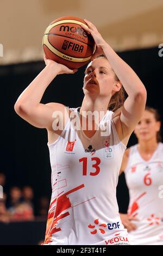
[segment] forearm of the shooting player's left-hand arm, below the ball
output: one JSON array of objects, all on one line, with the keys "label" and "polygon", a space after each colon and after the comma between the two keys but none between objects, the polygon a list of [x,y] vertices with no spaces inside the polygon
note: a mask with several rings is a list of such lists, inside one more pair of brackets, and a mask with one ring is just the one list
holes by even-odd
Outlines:
[{"label": "forearm of the shooting player's left-hand arm, below the ball", "polygon": [[33,108],[39,105],[46,88],[58,72],[53,65],[47,65],[18,97],[15,107]]}]

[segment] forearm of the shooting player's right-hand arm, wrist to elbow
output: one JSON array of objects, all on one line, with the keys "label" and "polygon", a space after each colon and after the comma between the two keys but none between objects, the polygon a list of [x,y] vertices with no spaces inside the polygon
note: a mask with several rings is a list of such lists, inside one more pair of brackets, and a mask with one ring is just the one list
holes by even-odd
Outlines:
[{"label": "forearm of the shooting player's right-hand arm, wrist to elbow", "polygon": [[131,69],[130,66],[124,62],[124,60],[122,60],[108,44],[106,44],[106,42],[104,42],[102,48],[106,58],[112,66],[112,69],[122,82],[127,94],[129,96],[135,96],[139,93],[145,92],[145,86],[134,70]]}]

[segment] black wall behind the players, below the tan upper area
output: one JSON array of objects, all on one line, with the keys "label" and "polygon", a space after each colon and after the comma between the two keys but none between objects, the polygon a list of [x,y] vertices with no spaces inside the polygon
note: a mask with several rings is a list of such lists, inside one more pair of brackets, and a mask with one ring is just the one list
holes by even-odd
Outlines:
[{"label": "black wall behind the players, below the tan upper area", "polygon": [[[118,53],[135,70],[145,84],[147,105],[162,110],[162,64],[159,49],[149,48]],[[35,201],[40,196],[51,196],[51,167],[47,147],[47,132],[37,129],[18,117],[14,103],[37,74],[45,67],[43,62],[0,66],[1,81],[1,161],[0,172],[7,176],[8,191],[11,186],[30,185],[34,188]],[[83,100],[84,68],[74,75],[59,75],[47,88],[42,103],[61,102],[78,107]],[[128,147],[136,143],[131,136]],[[128,192],[121,177],[117,191],[120,210],[127,209]]]}]

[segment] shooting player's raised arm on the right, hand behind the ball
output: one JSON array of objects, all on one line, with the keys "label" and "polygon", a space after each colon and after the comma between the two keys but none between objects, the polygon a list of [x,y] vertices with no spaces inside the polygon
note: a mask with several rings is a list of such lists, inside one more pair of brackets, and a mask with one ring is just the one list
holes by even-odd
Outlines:
[{"label": "shooting player's raised arm on the right, hand behind the ball", "polygon": [[102,52],[105,54],[112,69],[128,94],[128,97],[121,108],[121,112],[119,113],[119,118],[116,119],[116,122],[120,122],[121,125],[119,126],[122,127],[121,140],[124,144],[127,144],[129,136],[145,110],[147,97],[146,88],[140,78],[135,74],[134,70],[131,69],[130,66],[105,42],[101,34],[97,31],[97,28],[91,22],[87,20],[85,20],[85,22],[89,28],[86,28],[83,25],[81,26],[93,36],[97,47],[95,54]]}]

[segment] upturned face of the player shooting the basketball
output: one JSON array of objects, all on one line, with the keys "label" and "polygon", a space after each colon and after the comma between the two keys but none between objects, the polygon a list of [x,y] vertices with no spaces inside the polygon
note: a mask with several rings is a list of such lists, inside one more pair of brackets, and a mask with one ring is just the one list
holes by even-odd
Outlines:
[{"label": "upturned face of the player shooting the basketball", "polygon": [[84,93],[109,96],[121,89],[121,84],[117,87],[116,83],[114,71],[108,60],[97,58],[86,68],[83,90]]}]

